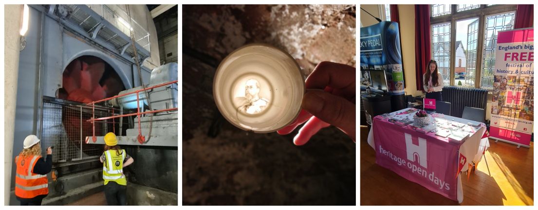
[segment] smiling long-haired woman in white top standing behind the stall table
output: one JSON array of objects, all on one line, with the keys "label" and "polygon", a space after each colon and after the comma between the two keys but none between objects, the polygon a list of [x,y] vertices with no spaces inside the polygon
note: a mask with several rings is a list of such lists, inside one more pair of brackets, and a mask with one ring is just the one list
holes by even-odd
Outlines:
[{"label": "smiling long-haired woman in white top standing behind the stall table", "polygon": [[426,98],[435,99],[435,101],[443,101],[443,75],[438,73],[437,62],[430,60],[428,62],[428,71],[423,76],[424,90]]}]

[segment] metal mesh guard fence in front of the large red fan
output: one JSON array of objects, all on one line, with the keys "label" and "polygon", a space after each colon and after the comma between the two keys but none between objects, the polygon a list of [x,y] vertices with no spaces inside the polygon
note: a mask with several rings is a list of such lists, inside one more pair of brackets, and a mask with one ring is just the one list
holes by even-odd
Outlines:
[{"label": "metal mesh guard fence in front of the large red fan", "polygon": [[[95,107],[95,117],[107,117],[119,114],[109,107]],[[93,133],[90,122],[91,106],[67,100],[44,97],[43,127],[41,141],[43,148],[54,146],[52,161],[54,163],[84,160],[101,156],[103,144],[86,144],[84,139]],[[122,130],[129,127],[128,120],[123,120]],[[114,120],[97,121],[95,135],[104,136],[108,132],[119,134],[119,123]]]}]

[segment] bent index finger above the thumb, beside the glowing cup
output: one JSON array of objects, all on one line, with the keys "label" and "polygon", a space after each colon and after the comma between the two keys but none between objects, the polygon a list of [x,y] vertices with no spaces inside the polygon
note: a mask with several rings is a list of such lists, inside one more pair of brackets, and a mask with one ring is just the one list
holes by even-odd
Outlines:
[{"label": "bent index finger above the thumb, beside the glowing cup", "polygon": [[317,64],[312,74],[306,79],[307,89],[324,89],[330,86],[334,89],[344,89],[355,93],[355,67],[341,63],[323,61]]}]

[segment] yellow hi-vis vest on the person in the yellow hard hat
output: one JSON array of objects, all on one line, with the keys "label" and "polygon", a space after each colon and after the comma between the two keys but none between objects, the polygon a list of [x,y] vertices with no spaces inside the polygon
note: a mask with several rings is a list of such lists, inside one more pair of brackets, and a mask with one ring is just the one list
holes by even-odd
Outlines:
[{"label": "yellow hi-vis vest on the person in the yellow hard hat", "polygon": [[127,185],[127,179],[123,175],[123,160],[125,160],[125,150],[122,149],[122,154],[116,155],[116,150],[107,150],[104,152],[106,157],[103,162],[103,179],[104,184],[113,181],[121,185]]}]

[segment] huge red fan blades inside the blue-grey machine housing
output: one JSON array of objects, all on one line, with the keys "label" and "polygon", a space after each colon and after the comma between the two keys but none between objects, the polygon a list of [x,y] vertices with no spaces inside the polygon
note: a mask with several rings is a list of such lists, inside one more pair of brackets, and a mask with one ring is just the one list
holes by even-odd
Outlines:
[{"label": "huge red fan blades inside the blue-grey machine housing", "polygon": [[[58,98],[91,103],[116,96],[122,90],[125,90],[125,88],[121,79],[108,63],[95,56],[81,56],[69,63],[63,71],[63,87],[58,92]],[[73,114],[74,112],[79,114]],[[95,111],[95,118],[110,115],[112,113],[107,111]],[[82,110],[81,129],[80,111],[76,111],[69,106],[62,108],[62,124],[69,141],[66,142],[66,147],[61,147],[60,150],[65,149],[67,153],[76,153],[76,150],[78,150],[76,148],[80,147],[81,132],[82,136],[91,136],[93,134],[93,129],[91,129],[93,125],[86,121],[91,117],[91,109]],[[117,121],[116,124],[110,124],[107,121],[96,122],[95,134],[104,135],[105,132],[111,132],[114,129],[116,131],[118,129]],[[89,156],[100,155],[94,154],[98,149],[102,149],[102,147],[97,144],[83,144],[82,146],[83,153]],[[72,155],[68,154],[67,157],[69,156]]]}]

